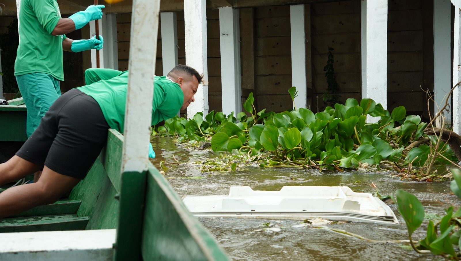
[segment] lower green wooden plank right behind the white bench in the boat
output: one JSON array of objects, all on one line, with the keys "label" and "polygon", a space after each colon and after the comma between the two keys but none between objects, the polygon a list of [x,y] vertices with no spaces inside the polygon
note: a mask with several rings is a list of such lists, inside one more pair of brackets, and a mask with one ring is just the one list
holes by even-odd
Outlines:
[{"label": "lower green wooden plank right behind the white bench in the boat", "polygon": [[88,220],[88,217],[79,218],[77,214],[6,218],[0,221],[0,233],[83,230]]}]

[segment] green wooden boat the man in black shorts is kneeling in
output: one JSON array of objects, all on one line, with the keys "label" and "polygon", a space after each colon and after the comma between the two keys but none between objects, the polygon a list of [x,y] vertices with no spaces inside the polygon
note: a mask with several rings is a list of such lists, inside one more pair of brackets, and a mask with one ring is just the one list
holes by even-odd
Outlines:
[{"label": "green wooden boat the man in black shorts is kneeling in", "polygon": [[[9,103],[0,106],[0,143],[23,142],[27,108],[22,98]],[[106,147],[67,198],[3,219],[0,232],[116,229],[114,260],[228,260],[151,163],[145,175],[121,173],[123,142],[109,130]]]}]

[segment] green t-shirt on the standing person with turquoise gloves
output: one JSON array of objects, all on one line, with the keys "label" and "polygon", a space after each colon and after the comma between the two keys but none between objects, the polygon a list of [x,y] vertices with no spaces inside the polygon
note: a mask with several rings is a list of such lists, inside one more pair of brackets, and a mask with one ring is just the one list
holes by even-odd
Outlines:
[{"label": "green t-shirt on the standing person with turquoise gloves", "polygon": [[52,36],[61,14],[56,0],[22,0],[19,11],[19,46],[14,75],[42,72],[64,81],[62,41]]}]

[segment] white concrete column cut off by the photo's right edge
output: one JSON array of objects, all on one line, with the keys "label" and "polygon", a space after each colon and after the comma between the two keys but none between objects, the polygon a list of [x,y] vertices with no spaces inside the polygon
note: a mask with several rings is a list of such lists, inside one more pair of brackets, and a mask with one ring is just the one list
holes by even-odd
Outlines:
[{"label": "white concrete column cut off by the photo's right edge", "polygon": [[[461,81],[461,1],[455,3],[455,31],[453,39],[453,86]],[[435,64],[434,64],[435,65]],[[435,67],[435,66],[434,66]],[[460,86],[453,91],[453,131],[461,135],[461,91]]]}]

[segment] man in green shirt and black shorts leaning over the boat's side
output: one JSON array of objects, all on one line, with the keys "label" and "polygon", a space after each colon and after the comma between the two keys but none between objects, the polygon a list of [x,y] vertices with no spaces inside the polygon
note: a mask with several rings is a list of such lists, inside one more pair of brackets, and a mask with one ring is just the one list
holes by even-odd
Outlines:
[{"label": "man in green shirt and black shorts leaning over the boat's side", "polygon": [[[186,65],[154,77],[152,125],[188,107],[201,78]],[[89,69],[85,80],[90,84],[60,96],[16,155],[0,164],[0,185],[43,168],[38,182],[0,193],[0,219],[59,200],[86,176],[107,130],[124,130],[128,71]]]}]

